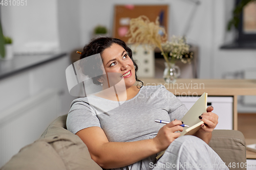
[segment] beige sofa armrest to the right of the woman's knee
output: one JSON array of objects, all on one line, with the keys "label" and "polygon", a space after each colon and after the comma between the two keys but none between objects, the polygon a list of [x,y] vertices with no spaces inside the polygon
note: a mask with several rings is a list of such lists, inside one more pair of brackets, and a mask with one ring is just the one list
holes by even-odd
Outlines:
[{"label": "beige sofa armrest to the right of the woman's knee", "polygon": [[[236,130],[214,130],[209,146],[221,157],[230,169],[246,169],[246,144],[242,132]],[[236,168],[232,168],[233,162]]]}]

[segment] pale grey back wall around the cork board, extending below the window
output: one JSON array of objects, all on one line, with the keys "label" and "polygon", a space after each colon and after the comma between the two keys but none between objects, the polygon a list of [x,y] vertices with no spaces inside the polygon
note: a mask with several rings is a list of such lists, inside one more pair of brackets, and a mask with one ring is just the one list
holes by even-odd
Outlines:
[{"label": "pale grey back wall around the cork board, extending below the window", "polygon": [[[81,1],[81,46],[90,40],[96,25],[112,30],[115,4],[169,5],[169,36],[183,35],[185,23],[195,6],[188,0]],[[232,31],[226,31],[233,6],[233,0],[203,0],[197,9],[187,37],[188,42],[199,46],[199,77],[202,79],[221,79],[227,72],[256,67],[255,50],[220,50],[221,45],[234,37]]]}]

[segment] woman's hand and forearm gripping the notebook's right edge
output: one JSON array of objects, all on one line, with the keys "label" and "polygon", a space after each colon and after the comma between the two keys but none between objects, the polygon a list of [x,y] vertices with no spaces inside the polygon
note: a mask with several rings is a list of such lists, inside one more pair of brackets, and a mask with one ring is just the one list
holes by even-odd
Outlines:
[{"label": "woman's hand and forearm gripping the notebook's right edge", "polygon": [[212,110],[214,110],[212,106],[207,107],[207,113],[201,115],[201,120],[204,124],[202,124],[201,128],[194,134],[204,140],[207,144],[210,142],[211,132],[217,126],[219,118],[217,114],[211,112]]}]

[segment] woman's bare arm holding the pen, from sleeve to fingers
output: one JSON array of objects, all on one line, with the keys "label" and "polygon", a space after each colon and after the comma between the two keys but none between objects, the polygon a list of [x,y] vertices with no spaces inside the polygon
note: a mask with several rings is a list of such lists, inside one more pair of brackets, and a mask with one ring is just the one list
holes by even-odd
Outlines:
[{"label": "woman's bare arm holding the pen, from sleeve to fingers", "polygon": [[76,133],[87,145],[91,158],[102,168],[117,168],[130,165],[165,150],[183,131],[180,120],[163,126],[157,136],[133,142],[109,142],[99,127],[82,129]]}]

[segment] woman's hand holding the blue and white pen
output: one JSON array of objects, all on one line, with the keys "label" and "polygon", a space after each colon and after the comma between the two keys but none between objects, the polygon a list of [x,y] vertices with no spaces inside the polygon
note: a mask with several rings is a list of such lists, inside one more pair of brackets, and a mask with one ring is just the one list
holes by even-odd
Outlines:
[{"label": "woman's hand holding the blue and white pen", "polygon": [[175,133],[176,131],[183,131],[183,127],[179,125],[182,125],[181,120],[175,119],[158,131],[157,136],[153,140],[159,152],[168,148],[170,143],[180,136],[180,133]]}]

